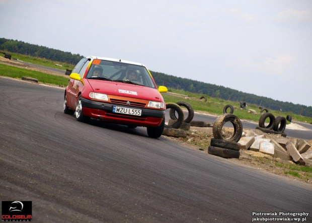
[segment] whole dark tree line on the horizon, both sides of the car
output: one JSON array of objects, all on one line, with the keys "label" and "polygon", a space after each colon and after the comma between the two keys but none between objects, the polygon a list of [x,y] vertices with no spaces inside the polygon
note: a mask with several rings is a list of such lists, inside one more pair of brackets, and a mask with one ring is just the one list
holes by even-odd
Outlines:
[{"label": "whole dark tree line on the horizon, both sides of the car", "polygon": [[[61,50],[51,49],[45,46],[25,43],[23,41],[0,38],[0,50],[14,53],[37,56],[54,61],[76,64],[83,58],[80,54],[72,54]],[[210,97],[218,97],[223,100],[246,102],[247,104],[261,105],[272,110],[282,110],[293,112],[294,114],[312,117],[312,107],[293,104],[291,102],[282,102],[267,97],[260,97],[254,94],[248,94],[241,91],[225,88],[223,86],[212,85],[204,82],[194,81],[186,78],[178,78],[172,75],[166,75],[162,72],[150,71],[158,86],[165,85],[168,88],[183,89],[192,93],[199,93]]]}]

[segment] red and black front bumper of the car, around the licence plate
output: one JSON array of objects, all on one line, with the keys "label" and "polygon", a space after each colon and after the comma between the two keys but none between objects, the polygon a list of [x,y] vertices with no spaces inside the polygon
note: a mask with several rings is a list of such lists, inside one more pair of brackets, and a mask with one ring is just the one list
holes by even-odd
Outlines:
[{"label": "red and black front bumper of the car, around the licence plate", "polygon": [[[165,110],[154,110],[140,107],[124,106],[106,102],[92,101],[82,98],[83,113],[91,118],[125,125],[145,127],[159,126],[165,118]],[[113,112],[113,106],[141,109],[141,116],[127,115]]]}]

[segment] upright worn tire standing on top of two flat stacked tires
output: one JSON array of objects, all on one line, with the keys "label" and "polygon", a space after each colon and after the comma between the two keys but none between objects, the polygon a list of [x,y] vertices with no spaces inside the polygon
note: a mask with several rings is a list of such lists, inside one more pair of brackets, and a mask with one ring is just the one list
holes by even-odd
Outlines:
[{"label": "upright worn tire standing on top of two flat stacked tires", "polygon": [[[222,127],[226,122],[231,122],[234,127],[233,135],[229,138],[223,138]],[[227,141],[238,142],[243,134],[243,125],[241,120],[233,114],[223,114],[216,118],[212,127],[212,134],[214,138],[223,139]]]}]

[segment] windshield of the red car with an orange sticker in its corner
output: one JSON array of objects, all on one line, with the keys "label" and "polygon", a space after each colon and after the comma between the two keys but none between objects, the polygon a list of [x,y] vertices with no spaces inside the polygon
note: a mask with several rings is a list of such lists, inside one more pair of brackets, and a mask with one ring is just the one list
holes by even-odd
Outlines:
[{"label": "windshield of the red car with an orange sticker in its corner", "polygon": [[122,82],[156,88],[144,66],[109,60],[95,59],[90,66],[87,79]]}]

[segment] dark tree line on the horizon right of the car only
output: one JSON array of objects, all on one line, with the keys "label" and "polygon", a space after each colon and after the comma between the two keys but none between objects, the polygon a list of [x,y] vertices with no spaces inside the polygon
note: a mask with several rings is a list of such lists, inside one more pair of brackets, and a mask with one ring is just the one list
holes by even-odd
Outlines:
[{"label": "dark tree line on the horizon right of the car only", "polygon": [[192,93],[221,98],[223,100],[246,102],[247,104],[249,103],[259,105],[263,108],[293,112],[294,114],[312,118],[311,106],[293,104],[291,102],[282,102],[267,97],[257,96],[254,94],[248,94],[238,90],[225,88],[223,86],[212,85],[186,78],[178,78],[172,75],[166,75],[165,73],[161,72],[150,72],[158,86],[164,85],[168,88],[181,89]]}]

